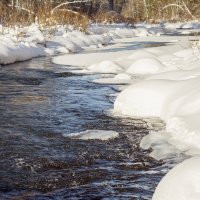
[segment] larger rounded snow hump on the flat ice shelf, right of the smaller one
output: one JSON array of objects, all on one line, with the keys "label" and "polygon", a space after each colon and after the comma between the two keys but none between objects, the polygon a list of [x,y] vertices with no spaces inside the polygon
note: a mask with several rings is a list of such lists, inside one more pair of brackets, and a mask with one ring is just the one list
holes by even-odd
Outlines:
[{"label": "larger rounded snow hump on the flat ice shelf, right of the smaller one", "polygon": [[164,69],[164,67],[158,59],[143,58],[136,60],[126,72],[137,75],[155,74]]}]

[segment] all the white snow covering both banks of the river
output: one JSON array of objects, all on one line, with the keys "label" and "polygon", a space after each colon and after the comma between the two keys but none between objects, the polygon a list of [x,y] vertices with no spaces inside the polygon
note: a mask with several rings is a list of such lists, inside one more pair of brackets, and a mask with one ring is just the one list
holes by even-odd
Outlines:
[{"label": "all the white snow covering both banks of the river", "polygon": [[[101,73],[102,78],[94,80],[101,84],[124,84],[119,87],[121,92],[114,102],[113,114],[159,117],[166,123],[164,130],[151,132],[141,141],[141,148],[152,148],[151,156],[156,159],[177,153],[199,156],[200,51],[197,44],[191,47],[192,42],[189,41],[196,40],[196,37],[183,36],[199,28],[198,22],[137,24],[136,29],[127,29],[123,25],[92,25],[85,34],[58,26],[52,28],[50,34],[49,30],[37,25],[16,29],[1,27],[0,64],[64,53],[53,58],[53,62],[71,66],[72,70],[79,67],[83,73]],[[173,36],[177,33],[182,36]],[[112,45],[105,46],[111,42]],[[143,48],[149,44],[159,46],[164,43],[167,45]],[[83,53],[68,54],[83,49],[86,50]],[[90,53],[91,50],[93,53]],[[95,134],[84,132],[72,137],[91,139],[95,138]],[[104,134],[110,137],[110,133]],[[187,167],[182,177],[193,170],[196,163],[199,165],[199,160],[199,157],[191,159],[172,170],[158,186],[154,199],[200,199],[198,178],[193,180],[191,175],[187,180],[184,177],[184,181],[179,179],[179,168]],[[199,174],[198,169],[195,170]],[[174,179],[179,188],[182,187],[177,192],[168,190],[170,181]],[[195,192],[190,186],[195,187]],[[188,190],[183,189],[187,187]],[[189,192],[186,194],[185,191]],[[170,194],[164,198],[164,192]]]}]

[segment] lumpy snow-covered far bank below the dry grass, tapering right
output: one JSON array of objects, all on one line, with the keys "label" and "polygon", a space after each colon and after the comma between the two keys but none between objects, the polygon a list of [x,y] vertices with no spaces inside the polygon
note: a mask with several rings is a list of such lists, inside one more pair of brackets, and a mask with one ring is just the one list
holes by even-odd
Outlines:
[{"label": "lumpy snow-covered far bank below the dry grass, tapering right", "polygon": [[[188,27],[187,24],[172,26],[137,24],[136,28],[119,25],[91,25],[88,33],[74,30],[70,26],[44,28],[37,24],[29,27],[6,28],[0,26],[0,64],[10,64],[34,57],[50,56],[59,53],[75,53],[87,47],[101,48],[115,39],[138,36],[155,36],[177,32],[177,27]],[[199,24],[190,24],[198,28]]]}]

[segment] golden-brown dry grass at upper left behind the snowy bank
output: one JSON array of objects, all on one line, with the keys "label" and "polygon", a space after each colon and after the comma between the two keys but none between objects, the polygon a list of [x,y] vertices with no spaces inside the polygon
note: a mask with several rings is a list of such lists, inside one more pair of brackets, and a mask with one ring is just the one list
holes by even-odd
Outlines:
[{"label": "golden-brown dry grass at upper left behind the snowy bank", "polygon": [[27,26],[35,22],[43,27],[69,24],[82,31],[87,29],[89,23],[87,16],[67,9],[59,9],[53,13],[51,10],[51,3],[40,3],[40,5],[30,3],[26,9],[0,3],[0,23],[6,27]]}]

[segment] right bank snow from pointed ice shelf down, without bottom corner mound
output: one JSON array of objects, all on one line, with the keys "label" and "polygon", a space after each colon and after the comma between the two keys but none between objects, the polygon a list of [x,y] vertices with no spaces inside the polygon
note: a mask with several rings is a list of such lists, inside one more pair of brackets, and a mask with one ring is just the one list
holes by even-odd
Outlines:
[{"label": "right bank snow from pointed ice shelf down, without bottom corner mound", "polygon": [[[174,37],[169,46],[130,50],[129,45],[135,40],[123,40],[111,49],[101,47],[103,52],[58,56],[53,62],[80,66],[90,73],[110,74],[94,80],[97,83],[125,84],[118,86],[121,92],[114,102],[114,114],[164,120],[165,130],[151,133],[141,142],[142,148],[153,149],[154,158],[163,159],[179,152],[199,154],[200,130],[195,119],[200,115],[200,63],[194,49],[187,46],[188,38]],[[152,38],[154,42],[168,40],[169,37]],[[143,37],[143,41],[150,39]]]}]

